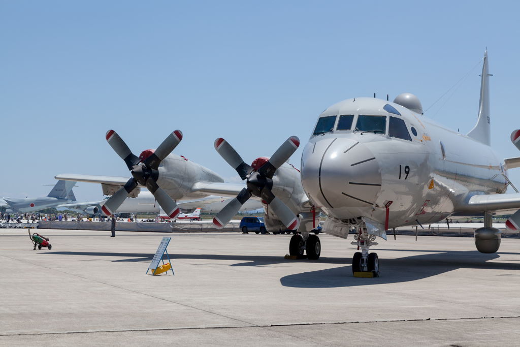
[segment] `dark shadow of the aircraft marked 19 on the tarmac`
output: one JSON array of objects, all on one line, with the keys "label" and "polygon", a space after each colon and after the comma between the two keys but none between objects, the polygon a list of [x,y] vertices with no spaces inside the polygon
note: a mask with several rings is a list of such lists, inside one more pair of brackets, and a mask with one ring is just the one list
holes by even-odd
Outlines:
[{"label": "dark shadow of the aircraft marked 19 on the tarmac", "polygon": [[[389,250],[404,252],[432,252],[420,250]],[[83,255],[83,256],[107,256],[124,257],[126,259],[113,260],[113,262],[150,262],[153,254],[145,253],[112,253],[112,252],[45,252],[42,254],[57,255]],[[503,252],[502,254],[520,253]],[[500,253],[483,254],[478,251],[442,251],[430,254],[419,254],[405,256],[397,259],[380,259],[379,278],[354,278],[352,277],[352,259],[350,258],[327,258],[320,257],[316,262],[324,264],[345,265],[340,267],[322,269],[318,271],[303,272],[280,278],[280,283],[285,287],[293,288],[337,288],[380,285],[398,282],[408,282],[442,273],[450,272],[459,268],[475,269],[499,269],[520,270],[517,262],[488,262],[496,260]],[[237,264],[230,266],[266,266],[295,262],[285,260],[282,256],[261,255],[219,255],[219,254],[170,254],[172,262],[175,259],[212,260],[212,261],[235,261]],[[309,262],[309,260],[297,260],[296,262]],[[314,262],[314,261],[313,261]],[[501,274],[501,276],[516,276],[518,274]],[[497,275],[498,276],[498,275]]]}]

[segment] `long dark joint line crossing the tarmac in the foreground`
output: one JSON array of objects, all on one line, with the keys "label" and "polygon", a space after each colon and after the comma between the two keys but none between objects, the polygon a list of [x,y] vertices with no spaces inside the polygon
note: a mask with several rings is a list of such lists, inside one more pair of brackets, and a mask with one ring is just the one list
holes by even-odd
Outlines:
[{"label": "long dark joint line crossing the tarmac in the foreground", "polygon": [[[520,316],[500,316],[500,317],[462,317],[462,318],[426,318],[426,319],[389,319],[389,320],[367,320],[352,322],[317,322],[317,323],[288,323],[288,324],[269,324],[269,325],[236,325],[221,327],[179,327],[179,328],[136,328],[136,329],[114,329],[114,330],[77,330],[77,331],[49,331],[49,332],[19,332],[19,333],[0,333],[2,336],[27,336],[27,335],[66,335],[99,332],[132,332],[132,331],[165,331],[165,330],[210,330],[210,329],[250,329],[250,328],[276,328],[276,327],[295,327],[310,325],[346,325],[346,324],[370,324],[370,323],[400,323],[400,322],[437,322],[440,320],[477,320],[477,319],[508,319],[520,318]],[[272,330],[271,330],[272,331]],[[292,336],[292,335],[291,335]],[[295,336],[296,337],[296,336]]]}]

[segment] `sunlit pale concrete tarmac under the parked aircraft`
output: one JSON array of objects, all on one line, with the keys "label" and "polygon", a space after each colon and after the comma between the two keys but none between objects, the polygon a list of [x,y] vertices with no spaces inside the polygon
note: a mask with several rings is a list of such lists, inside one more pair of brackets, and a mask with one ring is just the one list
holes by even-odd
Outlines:
[{"label": "sunlit pale concrete tarmac under the parked aircraft", "polygon": [[[284,260],[289,235],[0,230],[0,345],[516,346],[520,240],[378,239],[379,278],[350,241]],[[146,275],[163,236],[175,276]]]}]

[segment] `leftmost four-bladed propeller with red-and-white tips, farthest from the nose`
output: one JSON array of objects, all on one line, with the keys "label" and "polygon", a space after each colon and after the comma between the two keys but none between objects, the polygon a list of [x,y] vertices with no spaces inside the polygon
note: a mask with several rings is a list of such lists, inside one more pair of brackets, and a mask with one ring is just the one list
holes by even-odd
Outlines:
[{"label": "leftmost four-bladed propeller with red-and-white tips, farthest from the nose", "polygon": [[[132,172],[132,178],[103,204],[101,208],[103,213],[106,215],[113,214],[132,190],[140,184],[150,190],[155,200],[157,200],[161,208],[170,218],[177,217],[180,213],[180,209],[175,201],[157,184],[157,179],[159,178],[159,171],[157,169],[161,161],[163,161],[164,158],[177,147],[180,140],[183,139],[183,133],[181,133],[180,130],[176,130],[168,135],[162,144],[160,144],[154,152],[150,151],[151,154],[142,161],[132,153],[123,139],[115,131],[109,130],[106,138],[110,147],[125,161],[128,170]],[[148,152],[148,154],[150,152]]]}]

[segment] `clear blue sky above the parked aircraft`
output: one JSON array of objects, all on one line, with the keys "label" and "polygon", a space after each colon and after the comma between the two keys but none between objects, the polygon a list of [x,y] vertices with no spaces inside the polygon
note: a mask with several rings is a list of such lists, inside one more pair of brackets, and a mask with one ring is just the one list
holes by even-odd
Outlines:
[{"label": "clear blue sky above the parked aircraft", "polygon": [[[234,181],[215,138],[251,162],[291,135],[305,143],[318,114],[346,98],[408,92],[426,109],[486,46],[492,146],[520,156],[509,139],[520,128],[518,4],[4,1],[0,196],[46,195],[59,173],[128,176],[109,129],[136,155],[180,129],[175,153]],[[436,121],[471,130],[481,69]],[[520,169],[510,175],[520,186]],[[77,185],[77,199],[101,198],[99,185]]]}]

